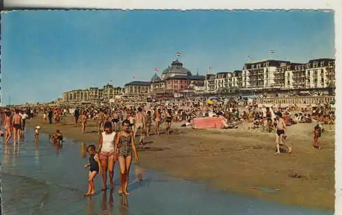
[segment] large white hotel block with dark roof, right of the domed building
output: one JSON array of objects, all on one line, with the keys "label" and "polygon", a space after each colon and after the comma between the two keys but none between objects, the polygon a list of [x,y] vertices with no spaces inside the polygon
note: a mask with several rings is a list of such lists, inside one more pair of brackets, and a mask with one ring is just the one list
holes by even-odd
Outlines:
[{"label": "large white hotel block with dark roof, right of the domed building", "polygon": [[308,89],[334,88],[335,60],[321,58],[306,63],[264,60],[244,65],[242,71],[208,74],[205,91],[225,88],[241,89]]}]

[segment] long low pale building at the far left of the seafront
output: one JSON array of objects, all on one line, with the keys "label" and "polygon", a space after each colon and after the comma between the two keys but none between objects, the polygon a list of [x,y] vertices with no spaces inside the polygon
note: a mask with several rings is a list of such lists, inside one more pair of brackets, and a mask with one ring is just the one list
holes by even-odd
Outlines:
[{"label": "long low pale building at the far left of the seafront", "polygon": [[82,103],[82,102],[109,102],[116,95],[122,95],[123,89],[114,87],[110,84],[103,88],[89,88],[85,90],[70,90],[63,92],[62,102],[66,103]]}]

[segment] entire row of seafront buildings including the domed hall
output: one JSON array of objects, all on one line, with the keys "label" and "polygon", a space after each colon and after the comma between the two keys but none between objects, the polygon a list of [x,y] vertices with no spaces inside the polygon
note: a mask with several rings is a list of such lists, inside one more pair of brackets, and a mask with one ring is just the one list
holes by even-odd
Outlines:
[{"label": "entire row of seafront buildings including the domed hall", "polygon": [[335,87],[335,60],[321,58],[297,63],[284,60],[263,60],[244,64],[241,70],[216,74],[193,75],[183,63],[174,60],[160,76],[150,81],[131,81],[124,88],[107,84],[102,89],[64,92],[64,102],[107,102],[116,95],[137,100],[146,97],[185,97],[194,94],[237,90],[307,90]]}]

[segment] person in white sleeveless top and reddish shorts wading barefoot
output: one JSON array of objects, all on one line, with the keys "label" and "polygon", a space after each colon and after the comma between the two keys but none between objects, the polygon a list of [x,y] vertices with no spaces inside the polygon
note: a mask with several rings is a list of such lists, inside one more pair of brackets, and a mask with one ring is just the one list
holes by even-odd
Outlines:
[{"label": "person in white sleeveless top and reddish shorts wading barefoot", "polygon": [[111,122],[106,122],[104,125],[104,131],[100,135],[100,140],[98,141],[97,153],[100,155],[101,165],[102,165],[102,177],[103,177],[103,188],[101,190],[107,189],[107,170],[109,170],[109,185],[114,188],[113,177],[114,177],[114,142],[116,138],[116,133],[112,129]]}]

